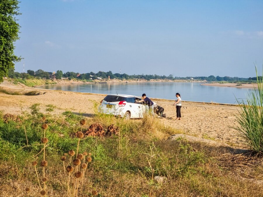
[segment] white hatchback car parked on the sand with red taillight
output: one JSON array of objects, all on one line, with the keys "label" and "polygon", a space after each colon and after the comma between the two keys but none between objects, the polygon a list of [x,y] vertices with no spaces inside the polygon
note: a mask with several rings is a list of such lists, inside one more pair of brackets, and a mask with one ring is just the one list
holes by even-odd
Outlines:
[{"label": "white hatchback car parked on the sand with red taillight", "polygon": [[115,116],[130,118],[143,118],[143,114],[149,109],[143,102],[136,103],[142,100],[133,95],[126,94],[110,94],[107,95],[98,107],[98,111],[104,114],[112,114]]}]

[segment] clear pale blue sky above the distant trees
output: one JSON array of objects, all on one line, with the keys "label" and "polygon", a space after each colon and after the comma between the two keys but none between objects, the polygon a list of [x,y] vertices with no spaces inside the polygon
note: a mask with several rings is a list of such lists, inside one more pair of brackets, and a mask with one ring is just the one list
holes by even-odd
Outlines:
[{"label": "clear pale blue sky above the distant trees", "polygon": [[15,54],[24,57],[25,71],[250,77],[255,62],[262,68],[263,1],[21,0],[19,6]]}]

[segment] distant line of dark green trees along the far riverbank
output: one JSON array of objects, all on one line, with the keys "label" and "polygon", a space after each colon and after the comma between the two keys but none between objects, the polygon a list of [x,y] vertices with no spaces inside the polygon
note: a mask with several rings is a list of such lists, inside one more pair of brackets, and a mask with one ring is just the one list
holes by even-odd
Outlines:
[{"label": "distant line of dark green trees along the far riverbank", "polygon": [[[108,79],[108,76],[110,76],[110,79],[146,79],[146,80],[150,80],[150,79],[170,79],[170,80],[206,80],[206,81],[251,81],[251,80],[256,80],[256,77],[250,77],[250,78],[239,78],[239,77],[229,77],[229,76],[224,76],[224,77],[220,77],[220,76],[214,76],[214,75],[210,75],[208,77],[206,76],[195,76],[195,77],[177,77],[177,76],[173,76],[172,74],[170,74],[169,76],[165,76],[165,75],[144,75],[144,74],[140,74],[140,75],[128,75],[128,74],[120,74],[120,73],[115,73],[113,74],[111,71],[108,72],[103,72],[103,71],[99,71],[97,73],[94,72],[89,72],[89,73],[76,73],[76,72],[66,72],[63,73],[61,70],[58,70],[56,73],[52,73],[52,72],[46,72],[44,70],[37,70],[37,71],[33,71],[33,70],[27,70],[27,73],[19,73],[19,72],[15,72],[14,68],[9,69],[8,72],[8,77],[10,78],[22,78],[22,79],[33,79],[34,77],[37,78],[44,78],[44,79],[50,79],[50,78],[56,78],[56,79],[61,79],[61,78],[68,78],[69,80],[71,79],[82,79],[82,80],[94,80],[97,79],[97,77],[100,77],[102,79]],[[262,76],[259,76],[262,79]]]}]

